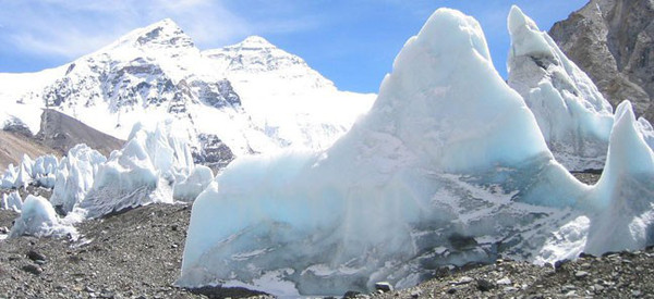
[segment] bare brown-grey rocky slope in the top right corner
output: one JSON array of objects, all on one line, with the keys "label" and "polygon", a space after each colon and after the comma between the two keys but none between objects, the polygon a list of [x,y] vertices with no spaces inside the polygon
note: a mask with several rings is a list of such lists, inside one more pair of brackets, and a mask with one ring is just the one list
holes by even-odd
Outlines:
[{"label": "bare brown-grey rocky slope in the top right corner", "polygon": [[614,105],[654,120],[654,1],[592,0],[549,30]]}]

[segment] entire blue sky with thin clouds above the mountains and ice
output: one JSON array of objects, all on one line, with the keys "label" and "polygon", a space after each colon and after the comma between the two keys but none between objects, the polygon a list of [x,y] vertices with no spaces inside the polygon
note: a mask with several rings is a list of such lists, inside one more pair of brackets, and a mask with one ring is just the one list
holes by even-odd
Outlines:
[{"label": "entire blue sky with thin clouds above the mountains and ice", "polygon": [[[201,49],[259,35],[343,90],[377,92],[404,41],[440,7],[480,21],[506,74],[506,17],[518,4],[541,29],[586,0],[0,0],[0,72],[53,67],[165,17]],[[0,83],[1,84],[1,83]]]}]

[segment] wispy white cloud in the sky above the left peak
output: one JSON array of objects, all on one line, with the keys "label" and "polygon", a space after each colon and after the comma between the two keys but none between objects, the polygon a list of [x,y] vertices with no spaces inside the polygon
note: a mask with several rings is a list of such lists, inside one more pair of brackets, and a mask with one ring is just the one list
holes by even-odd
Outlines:
[{"label": "wispy white cloud in the sky above the left peak", "polygon": [[[210,0],[0,0],[4,51],[74,59],[132,29],[170,17],[201,48],[220,47],[251,34],[289,33],[315,26],[307,18],[249,21]],[[9,48],[9,49],[7,49]]]}]

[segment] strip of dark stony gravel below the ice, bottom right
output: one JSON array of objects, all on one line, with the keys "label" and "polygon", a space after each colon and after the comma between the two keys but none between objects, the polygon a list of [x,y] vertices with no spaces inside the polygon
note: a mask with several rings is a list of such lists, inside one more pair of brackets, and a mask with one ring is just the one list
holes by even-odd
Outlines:
[{"label": "strip of dark stony gravel below the ice, bottom right", "polygon": [[[654,298],[654,250],[554,266],[498,260],[375,298]],[[365,297],[365,296],[359,296]]]}]

